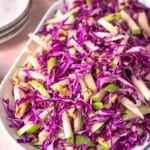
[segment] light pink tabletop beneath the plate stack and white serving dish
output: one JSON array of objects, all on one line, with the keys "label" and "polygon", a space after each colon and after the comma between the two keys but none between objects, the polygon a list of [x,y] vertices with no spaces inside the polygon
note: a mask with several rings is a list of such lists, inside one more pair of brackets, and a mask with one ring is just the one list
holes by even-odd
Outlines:
[{"label": "light pink tabletop beneath the plate stack and white serving dish", "polygon": [[[14,39],[4,44],[0,44],[0,82],[8,72],[9,68],[15,61],[20,51],[22,50],[24,44],[28,40],[27,34],[35,29],[42,16],[53,2],[55,2],[55,0],[33,0],[31,20],[26,29]],[[7,139],[1,128],[0,150],[18,150]]]}]

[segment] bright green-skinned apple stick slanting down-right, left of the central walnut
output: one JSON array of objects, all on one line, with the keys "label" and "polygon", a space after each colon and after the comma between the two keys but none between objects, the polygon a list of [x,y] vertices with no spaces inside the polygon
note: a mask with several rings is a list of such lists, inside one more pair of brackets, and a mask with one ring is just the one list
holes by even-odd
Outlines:
[{"label": "bright green-skinned apple stick slanting down-right, left of the central walnut", "polygon": [[44,85],[38,81],[32,80],[29,82],[30,85],[35,88],[41,95],[46,98],[50,98],[48,91],[45,89]]}]

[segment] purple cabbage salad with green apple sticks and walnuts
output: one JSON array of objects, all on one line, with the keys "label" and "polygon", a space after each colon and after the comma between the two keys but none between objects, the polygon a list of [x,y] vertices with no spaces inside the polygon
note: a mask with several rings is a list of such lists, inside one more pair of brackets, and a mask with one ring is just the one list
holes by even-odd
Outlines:
[{"label": "purple cabbage salad with green apple sticks and walnuts", "polygon": [[150,141],[150,9],[137,0],[64,2],[3,99],[19,143],[130,150]]}]

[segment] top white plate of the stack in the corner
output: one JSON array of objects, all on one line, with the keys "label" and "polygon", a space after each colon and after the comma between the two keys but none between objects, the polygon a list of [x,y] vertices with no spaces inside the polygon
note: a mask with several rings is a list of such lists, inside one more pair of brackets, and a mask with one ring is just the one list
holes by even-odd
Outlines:
[{"label": "top white plate of the stack in the corner", "polygon": [[30,0],[0,0],[0,30],[15,22],[29,7]]}]

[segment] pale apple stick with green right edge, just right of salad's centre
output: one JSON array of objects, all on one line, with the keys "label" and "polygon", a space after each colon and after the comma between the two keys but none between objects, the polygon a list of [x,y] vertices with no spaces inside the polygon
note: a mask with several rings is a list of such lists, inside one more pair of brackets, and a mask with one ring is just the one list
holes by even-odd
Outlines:
[{"label": "pale apple stick with green right edge, just right of salad's centre", "polygon": [[96,84],[95,84],[94,78],[93,78],[93,76],[92,76],[91,73],[86,74],[85,77],[84,77],[84,80],[85,80],[87,86],[88,86],[92,91],[95,91],[95,90],[96,90]]}]

